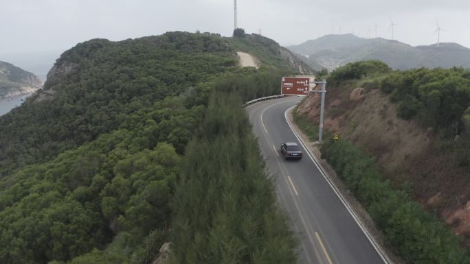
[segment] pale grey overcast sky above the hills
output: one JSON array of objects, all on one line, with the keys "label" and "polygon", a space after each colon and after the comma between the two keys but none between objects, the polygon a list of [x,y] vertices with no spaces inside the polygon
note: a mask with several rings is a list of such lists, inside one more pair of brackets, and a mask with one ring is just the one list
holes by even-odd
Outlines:
[{"label": "pale grey overcast sky above the hills", "polygon": [[[233,0],[0,0],[0,55],[57,51],[91,38],[123,40],[168,31],[232,35]],[[441,42],[470,47],[470,0],[238,0],[238,27],[281,45],[325,34],[394,38],[410,45]],[[370,32],[374,36],[374,31]],[[1,60],[1,58],[0,58]]]}]

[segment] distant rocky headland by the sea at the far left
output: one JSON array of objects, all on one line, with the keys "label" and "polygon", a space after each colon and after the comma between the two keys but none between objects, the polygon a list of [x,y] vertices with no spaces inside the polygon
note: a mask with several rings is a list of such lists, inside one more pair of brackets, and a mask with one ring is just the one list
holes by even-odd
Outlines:
[{"label": "distant rocky headland by the sea at the far left", "polygon": [[0,61],[0,98],[33,93],[43,82],[33,73]]}]

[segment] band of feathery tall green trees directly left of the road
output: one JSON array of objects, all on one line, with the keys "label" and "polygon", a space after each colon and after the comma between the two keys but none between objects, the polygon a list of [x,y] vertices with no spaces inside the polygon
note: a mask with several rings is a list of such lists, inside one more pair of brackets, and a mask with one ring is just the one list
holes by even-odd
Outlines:
[{"label": "band of feathery tall green trees directly left of the road", "polygon": [[201,135],[188,147],[172,206],[175,263],[297,261],[241,103],[214,94]]}]

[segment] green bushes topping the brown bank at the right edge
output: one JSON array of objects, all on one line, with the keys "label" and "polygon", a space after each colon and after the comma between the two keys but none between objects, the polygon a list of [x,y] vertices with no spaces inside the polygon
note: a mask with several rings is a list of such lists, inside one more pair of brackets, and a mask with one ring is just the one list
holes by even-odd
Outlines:
[{"label": "green bushes topping the brown bank at the right edge", "polygon": [[396,103],[399,117],[434,128],[457,165],[470,168],[470,71],[416,69],[383,77],[379,87]]}]

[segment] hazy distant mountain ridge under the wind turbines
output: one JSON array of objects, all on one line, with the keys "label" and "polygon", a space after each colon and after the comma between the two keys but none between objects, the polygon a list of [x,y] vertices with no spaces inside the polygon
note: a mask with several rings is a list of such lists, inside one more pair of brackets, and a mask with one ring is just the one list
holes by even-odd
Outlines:
[{"label": "hazy distant mountain ridge under the wind turbines", "polygon": [[326,35],[287,49],[297,53],[310,67],[336,69],[349,62],[381,60],[393,69],[470,69],[470,49],[457,43],[413,47],[385,38],[359,38],[353,34]]}]

